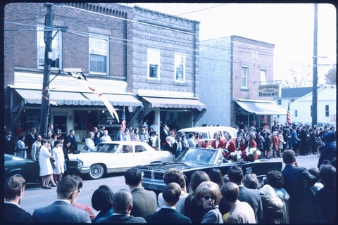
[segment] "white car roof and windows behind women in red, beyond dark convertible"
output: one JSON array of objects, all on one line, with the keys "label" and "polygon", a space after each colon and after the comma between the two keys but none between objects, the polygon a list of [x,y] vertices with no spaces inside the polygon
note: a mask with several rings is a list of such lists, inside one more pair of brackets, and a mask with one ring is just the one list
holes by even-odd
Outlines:
[{"label": "white car roof and windows behind women in red, beyond dark convertible", "polygon": [[[215,134],[216,131],[220,132],[220,139],[222,140],[225,140],[226,133],[229,133],[231,135],[233,141],[236,140],[237,131],[233,127],[190,127],[180,129],[179,131],[177,131],[176,136],[181,136],[182,132],[184,132],[188,139],[189,133],[195,133],[197,142],[200,146],[202,146],[202,143],[204,143],[204,141],[208,141],[208,144],[211,145],[213,140],[215,140],[213,138],[213,134]],[[201,139],[199,139],[200,134]]]}]

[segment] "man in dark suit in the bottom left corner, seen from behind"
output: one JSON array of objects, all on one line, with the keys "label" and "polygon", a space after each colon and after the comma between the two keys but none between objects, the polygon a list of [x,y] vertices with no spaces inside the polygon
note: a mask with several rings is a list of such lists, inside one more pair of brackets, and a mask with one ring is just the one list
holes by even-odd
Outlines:
[{"label": "man in dark suit in the bottom left corner, seen from behind", "polygon": [[32,223],[32,215],[19,205],[23,199],[26,181],[21,176],[11,176],[5,181],[5,221],[11,223]]}]

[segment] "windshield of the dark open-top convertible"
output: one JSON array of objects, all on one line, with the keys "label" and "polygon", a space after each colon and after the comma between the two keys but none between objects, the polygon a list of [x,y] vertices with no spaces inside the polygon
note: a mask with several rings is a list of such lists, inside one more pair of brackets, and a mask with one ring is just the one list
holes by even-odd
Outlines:
[{"label": "windshield of the dark open-top convertible", "polygon": [[176,161],[203,162],[213,164],[218,150],[214,148],[189,148],[185,150]]}]

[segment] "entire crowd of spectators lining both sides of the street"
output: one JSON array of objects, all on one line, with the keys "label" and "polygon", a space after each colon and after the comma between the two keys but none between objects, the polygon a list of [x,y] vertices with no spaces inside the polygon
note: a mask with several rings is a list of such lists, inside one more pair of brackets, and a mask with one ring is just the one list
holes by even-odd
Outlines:
[{"label": "entire crowd of spectators lining both sides of the street", "polygon": [[[247,148],[261,150],[261,157],[270,158],[271,151],[275,158],[282,157],[284,169],[268,172],[263,187],[258,189],[256,174],[244,176],[241,167],[236,165],[231,166],[224,176],[218,169],[212,169],[209,174],[196,171],[189,186],[182,171],[172,168],[163,175],[165,188],[156,197],[154,191],[142,187],[143,172],[132,168],[124,175],[126,189],[113,193],[108,186],[99,186],[94,191],[92,207],[99,211],[96,216],[89,205],[76,201],[83,185],[80,176],[67,174],[68,154],[78,152],[75,131],[70,130],[65,138],[54,136],[55,133],[51,131],[50,137],[42,138],[36,134],[36,129],[31,129],[27,136],[19,136],[16,154],[39,161],[42,188],[56,187],[57,200],[30,215],[20,208],[25,180],[19,176],[9,177],[4,189],[5,219],[12,222],[171,224],[318,224],[336,221],[335,128],[275,125],[272,135],[267,129],[238,129],[236,141],[231,140],[230,134],[226,134],[226,139],[222,140],[220,134],[215,132],[211,146],[204,146],[223,148],[225,160],[229,159],[228,153],[236,150],[243,155],[248,154]],[[114,139],[126,141],[127,133],[131,132],[130,140],[149,143],[156,131],[151,131],[153,133],[147,136],[149,132],[146,127],[142,127],[141,134],[138,134],[138,129],[120,129]],[[161,133],[165,133],[165,130],[168,134],[162,134],[166,135],[163,150],[165,145],[169,145],[170,151],[179,155],[187,146],[196,147],[198,134],[188,134],[188,139],[182,134],[175,139],[166,125]],[[27,143],[25,140],[30,139],[29,136],[32,140]],[[97,131],[94,129],[89,132],[86,146],[92,150],[96,141],[108,139],[105,136],[108,136],[108,131],[104,127],[99,127]],[[318,167],[306,169],[299,165],[296,156],[307,154],[318,154]]]}]

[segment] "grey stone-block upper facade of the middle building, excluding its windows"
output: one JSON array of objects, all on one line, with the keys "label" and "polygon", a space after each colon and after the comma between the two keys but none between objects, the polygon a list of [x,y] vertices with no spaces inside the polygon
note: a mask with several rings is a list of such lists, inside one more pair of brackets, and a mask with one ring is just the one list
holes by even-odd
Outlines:
[{"label": "grey stone-block upper facade of the middle building, excluding its windows", "polygon": [[[199,23],[176,16],[166,15],[146,8],[134,8],[133,23],[133,71],[134,92],[137,89],[182,91],[198,95],[198,53]],[[167,29],[165,29],[165,28]],[[161,51],[161,79],[148,79],[147,49]],[[186,56],[186,77],[184,83],[175,82],[174,56]]]}]

